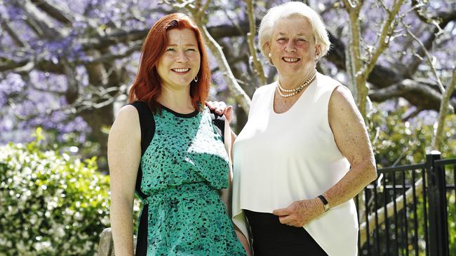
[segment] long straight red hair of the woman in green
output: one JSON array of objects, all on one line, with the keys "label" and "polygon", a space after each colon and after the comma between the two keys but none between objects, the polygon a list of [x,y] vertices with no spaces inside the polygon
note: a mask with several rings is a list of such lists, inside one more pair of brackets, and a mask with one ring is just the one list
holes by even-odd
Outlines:
[{"label": "long straight red hair of the woman in green", "polygon": [[[128,93],[128,102],[145,101],[150,110],[155,113],[160,110],[156,101],[161,93],[159,73],[156,71],[156,64],[168,45],[166,32],[170,29],[192,29],[198,42],[201,64],[198,72],[198,82],[192,80],[190,83],[190,97],[195,109],[201,111],[203,102],[206,101],[210,86],[210,69],[208,55],[204,48],[205,41],[201,36],[196,23],[183,13],[173,13],[162,17],[149,30],[144,45],[142,45],[140,67],[135,82]],[[202,105],[200,105],[202,104]]]}]

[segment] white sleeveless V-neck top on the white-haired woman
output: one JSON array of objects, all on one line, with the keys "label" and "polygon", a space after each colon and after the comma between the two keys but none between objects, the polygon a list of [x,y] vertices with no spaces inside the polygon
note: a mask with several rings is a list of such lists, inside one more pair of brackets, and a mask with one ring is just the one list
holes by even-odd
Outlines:
[{"label": "white sleeveless V-neck top on the white-haired woman", "polygon": [[[248,234],[242,209],[272,213],[314,199],[349,171],[328,122],[328,103],[340,83],[317,73],[286,113],[273,109],[276,83],[258,88],[248,122],[233,148],[233,221]],[[328,255],[357,255],[353,199],[304,226]]]}]

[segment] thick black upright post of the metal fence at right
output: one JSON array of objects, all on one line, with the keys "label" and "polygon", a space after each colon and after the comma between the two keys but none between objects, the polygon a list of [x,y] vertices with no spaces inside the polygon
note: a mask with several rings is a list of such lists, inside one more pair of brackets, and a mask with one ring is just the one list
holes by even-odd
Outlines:
[{"label": "thick black upright post of the metal fence at right", "polygon": [[446,210],[445,169],[434,164],[441,153],[433,150],[426,155],[427,193],[429,199],[429,254],[450,255],[448,249],[448,217]]}]

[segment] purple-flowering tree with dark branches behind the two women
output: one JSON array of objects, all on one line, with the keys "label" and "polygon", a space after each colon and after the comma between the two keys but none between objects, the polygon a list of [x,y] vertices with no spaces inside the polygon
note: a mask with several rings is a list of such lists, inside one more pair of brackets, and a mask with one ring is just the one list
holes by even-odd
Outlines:
[{"label": "purple-flowering tree with dark branches behind the two women", "polygon": [[[275,79],[275,69],[260,57],[253,35],[264,13],[282,2],[0,1],[0,143],[27,141],[29,129],[41,126],[55,131],[60,141],[72,139],[82,147],[87,141],[98,143],[91,154],[106,155],[107,131],[115,110],[126,102],[142,41],[159,17],[175,11],[189,13],[207,31],[215,83],[211,94],[239,106],[239,131],[255,89]],[[307,3],[321,13],[333,43],[318,63],[321,72],[356,95],[351,81],[364,66],[370,100],[406,99],[415,106],[410,116],[441,108],[443,92],[425,52],[447,86],[456,59],[451,50],[456,43],[456,6],[451,0],[401,1],[392,19],[394,29],[387,29],[386,37],[382,24],[394,6],[392,0]],[[359,4],[356,17],[347,11],[350,4]],[[356,59],[350,53],[351,19],[359,29]],[[382,51],[377,54],[379,45]],[[352,68],[354,60],[361,68]],[[450,110],[456,106],[455,97],[455,92],[448,95]]]}]

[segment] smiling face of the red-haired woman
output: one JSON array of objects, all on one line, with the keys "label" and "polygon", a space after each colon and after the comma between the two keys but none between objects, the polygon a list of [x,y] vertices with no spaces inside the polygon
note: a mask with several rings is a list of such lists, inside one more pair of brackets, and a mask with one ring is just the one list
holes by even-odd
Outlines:
[{"label": "smiling face of the red-haired woman", "polygon": [[201,63],[196,36],[191,29],[170,29],[166,35],[168,45],[156,65],[161,86],[177,90],[189,87]]}]

